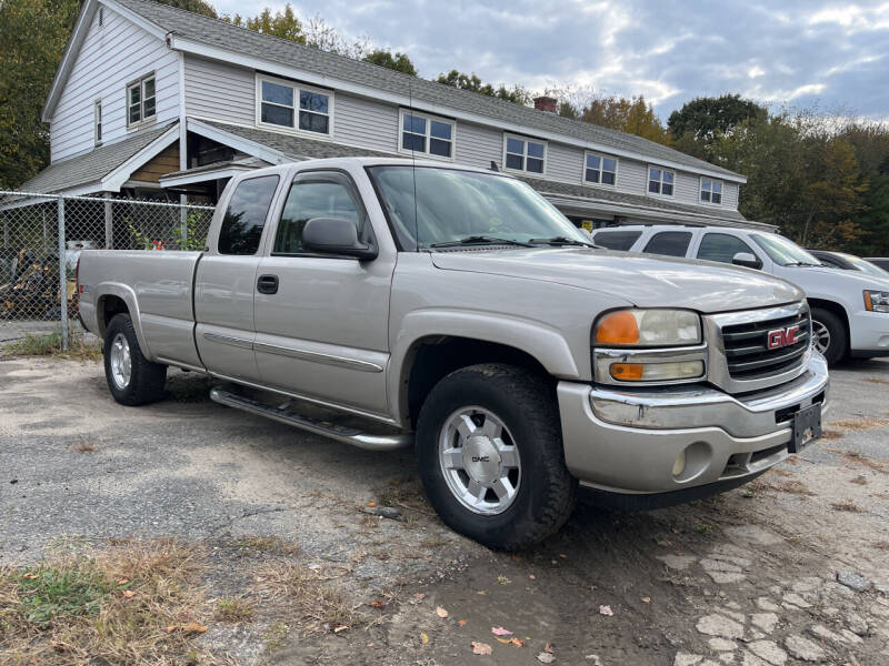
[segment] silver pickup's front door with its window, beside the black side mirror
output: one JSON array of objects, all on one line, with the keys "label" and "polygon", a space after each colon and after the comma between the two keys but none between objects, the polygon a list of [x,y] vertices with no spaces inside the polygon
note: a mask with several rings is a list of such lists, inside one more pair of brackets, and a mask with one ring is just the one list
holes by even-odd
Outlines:
[{"label": "silver pickup's front door with its window, beside the black side mirror", "polygon": [[260,377],[271,387],[384,415],[394,258],[312,254],[302,246],[302,228],[314,218],[350,220],[358,238],[372,242],[368,214],[347,173],[297,174],[257,273],[277,285],[254,297]]}]

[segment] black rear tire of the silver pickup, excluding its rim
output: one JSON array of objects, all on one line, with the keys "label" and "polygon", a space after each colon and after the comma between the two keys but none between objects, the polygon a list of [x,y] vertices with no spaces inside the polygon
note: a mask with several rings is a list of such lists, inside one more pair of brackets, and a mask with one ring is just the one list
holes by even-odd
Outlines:
[{"label": "black rear tire of the silver pickup, excluding its rim", "polygon": [[[118,335],[122,335],[130,351],[130,376],[122,385],[112,373],[112,345]],[[163,397],[163,384],[167,382],[167,366],[151,363],[142,355],[139,339],[132,326],[129,314],[116,314],[104,331],[104,377],[108,389],[117,402],[134,407],[157,402]]]}]

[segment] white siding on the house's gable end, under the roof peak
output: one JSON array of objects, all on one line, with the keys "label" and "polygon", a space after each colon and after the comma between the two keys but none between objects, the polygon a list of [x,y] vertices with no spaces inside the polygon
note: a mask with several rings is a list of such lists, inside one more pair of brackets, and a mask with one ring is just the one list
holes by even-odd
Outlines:
[{"label": "white siding on the house's gable end, under the roof peak", "polygon": [[[179,118],[179,57],[110,8],[104,26],[93,17],[50,122],[51,160],[58,162],[94,148],[93,105],[102,101],[102,142],[128,133],[127,83],[154,72],[154,122]],[[144,127],[144,125],[140,125]]]}]

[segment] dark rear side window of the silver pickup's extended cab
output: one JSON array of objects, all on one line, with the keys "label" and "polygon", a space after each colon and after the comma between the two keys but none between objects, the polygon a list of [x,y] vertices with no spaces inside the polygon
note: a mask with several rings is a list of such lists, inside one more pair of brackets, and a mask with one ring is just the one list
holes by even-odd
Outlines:
[{"label": "dark rear side window of the silver pickup's extended cab", "polygon": [[261,175],[238,184],[219,230],[220,254],[257,253],[279,180],[278,175]]}]

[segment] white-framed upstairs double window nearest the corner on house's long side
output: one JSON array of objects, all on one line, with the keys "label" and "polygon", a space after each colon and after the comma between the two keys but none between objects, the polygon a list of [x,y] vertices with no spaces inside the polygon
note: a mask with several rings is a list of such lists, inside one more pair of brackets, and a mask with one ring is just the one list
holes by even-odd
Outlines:
[{"label": "white-framed upstairs double window nearest the corner on house's long side", "polygon": [[293,83],[260,79],[260,124],[330,134],[332,95]]}]

